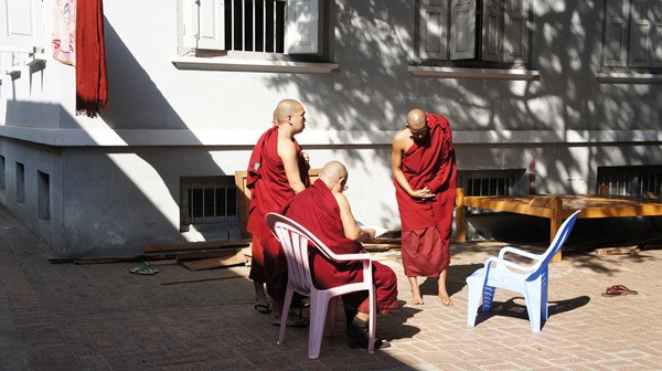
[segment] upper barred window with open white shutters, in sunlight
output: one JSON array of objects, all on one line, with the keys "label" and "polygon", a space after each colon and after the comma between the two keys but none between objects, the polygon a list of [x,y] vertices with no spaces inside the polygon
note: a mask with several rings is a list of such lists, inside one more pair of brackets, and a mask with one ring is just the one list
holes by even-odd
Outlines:
[{"label": "upper barred window with open white shutters, in sunlight", "polygon": [[183,44],[202,55],[321,55],[322,1],[184,0]]}]

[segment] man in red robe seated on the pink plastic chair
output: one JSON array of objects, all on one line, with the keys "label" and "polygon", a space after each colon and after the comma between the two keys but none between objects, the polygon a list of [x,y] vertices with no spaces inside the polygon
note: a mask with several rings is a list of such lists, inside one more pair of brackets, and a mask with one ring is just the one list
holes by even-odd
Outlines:
[{"label": "man in red robe seated on the pink plastic chair", "polygon": [[[331,161],[324,166],[319,179],[301,191],[285,206],[282,214],[301,224],[335,254],[363,253],[361,242],[373,239],[374,230],[362,230],[356,225],[350,203],[342,194],[346,189],[346,168]],[[312,248],[311,271],[318,288],[331,288],[363,279],[360,262],[331,262]],[[397,307],[397,277],[389,267],[373,262],[373,279],[377,312],[386,314]],[[352,293],[342,297],[348,316],[346,335],[363,348],[367,348],[370,303],[367,292]],[[388,347],[387,341],[377,340],[375,348]]]}]

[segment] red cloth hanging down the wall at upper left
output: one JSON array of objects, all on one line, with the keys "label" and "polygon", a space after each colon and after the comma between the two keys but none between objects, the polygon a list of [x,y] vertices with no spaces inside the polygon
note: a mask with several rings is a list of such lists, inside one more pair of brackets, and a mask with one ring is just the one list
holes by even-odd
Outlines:
[{"label": "red cloth hanging down the wall at upper left", "polygon": [[96,117],[108,106],[104,6],[102,0],[76,3],[76,115]]}]

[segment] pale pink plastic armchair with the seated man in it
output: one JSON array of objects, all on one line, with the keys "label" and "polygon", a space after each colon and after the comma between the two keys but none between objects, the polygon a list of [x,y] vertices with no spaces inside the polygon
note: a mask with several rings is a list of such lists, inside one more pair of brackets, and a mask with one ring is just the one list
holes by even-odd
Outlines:
[{"label": "pale pink plastic armchair with the seated man in it", "polygon": [[[310,297],[310,328],[308,330],[308,358],[317,359],[320,357],[322,337],[324,335],[325,321],[335,320],[335,310],[329,311],[329,300],[339,295],[354,292],[367,290],[370,298],[370,322],[369,322],[369,348],[367,351],[374,352],[375,326],[376,326],[376,299],[372,274],[372,259],[370,254],[334,254],[312,233],[299,225],[297,222],[277,214],[268,213],[266,215],[267,225],[271,233],[280,241],[285,255],[287,256],[288,283],[285,294],[282,308],[282,318],[280,319],[280,333],[278,343],[285,342],[285,329],[287,315],[292,301],[292,296],[299,293]],[[352,283],[327,289],[318,289],[312,283],[309,259],[309,245],[320,251],[327,258],[338,262],[360,261],[363,263],[363,282]],[[332,309],[335,306],[331,306]],[[327,312],[329,311],[329,318]]]}]

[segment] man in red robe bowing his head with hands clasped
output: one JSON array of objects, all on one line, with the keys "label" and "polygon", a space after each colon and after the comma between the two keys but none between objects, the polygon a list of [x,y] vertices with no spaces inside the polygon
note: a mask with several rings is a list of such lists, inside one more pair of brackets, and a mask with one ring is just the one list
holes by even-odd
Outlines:
[{"label": "man in red robe bowing his head with hands clasped", "polygon": [[407,114],[406,128],[393,138],[392,170],[402,221],[402,257],[412,286],[413,305],[423,305],[417,276],[438,277],[438,297],[446,290],[456,195],[456,159],[448,120],[419,108]]}]

